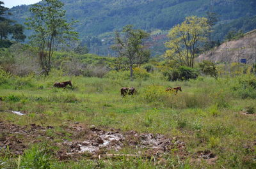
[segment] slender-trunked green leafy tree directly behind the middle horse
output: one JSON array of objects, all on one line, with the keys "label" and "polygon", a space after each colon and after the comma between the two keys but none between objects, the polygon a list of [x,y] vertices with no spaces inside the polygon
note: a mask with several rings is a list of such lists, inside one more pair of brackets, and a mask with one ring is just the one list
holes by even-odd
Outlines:
[{"label": "slender-trunked green leafy tree directly behind the middle horse", "polygon": [[122,33],[124,36],[116,32],[116,45],[112,48],[118,52],[119,57],[127,57],[132,81],[132,66],[140,65],[150,55],[150,52],[143,46],[143,39],[148,38],[149,34],[141,29],[133,29],[131,25],[125,26]]}]

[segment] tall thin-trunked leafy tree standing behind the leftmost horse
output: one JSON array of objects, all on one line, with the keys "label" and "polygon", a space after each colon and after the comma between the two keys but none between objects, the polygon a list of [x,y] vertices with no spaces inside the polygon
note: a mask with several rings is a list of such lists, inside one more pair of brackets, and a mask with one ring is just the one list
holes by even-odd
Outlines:
[{"label": "tall thin-trunked leafy tree standing behind the leftmost horse", "polygon": [[62,10],[63,5],[58,0],[44,0],[40,4],[33,4],[29,9],[33,17],[28,18],[26,25],[34,31],[29,38],[32,45],[38,48],[44,75],[49,75],[51,57],[58,45],[67,44],[66,41],[77,38],[77,33],[72,31],[74,22],[68,23],[65,20],[66,11]]}]

